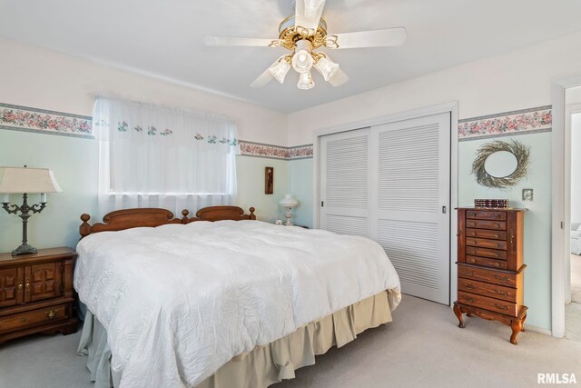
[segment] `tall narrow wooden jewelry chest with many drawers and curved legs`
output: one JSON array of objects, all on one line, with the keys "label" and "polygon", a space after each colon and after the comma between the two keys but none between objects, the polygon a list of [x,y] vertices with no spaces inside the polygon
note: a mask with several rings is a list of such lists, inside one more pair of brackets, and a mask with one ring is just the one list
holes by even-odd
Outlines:
[{"label": "tall narrow wooden jewelry chest with many drawers and curved legs", "polygon": [[524,209],[458,208],[458,327],[462,314],[505,323],[510,342],[524,332]]}]

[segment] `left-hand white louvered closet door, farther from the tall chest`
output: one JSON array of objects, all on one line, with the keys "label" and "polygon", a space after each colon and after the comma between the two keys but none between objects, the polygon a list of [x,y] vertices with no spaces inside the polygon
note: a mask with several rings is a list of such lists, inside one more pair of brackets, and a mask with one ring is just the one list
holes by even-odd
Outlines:
[{"label": "left-hand white louvered closet door, farther from the tall chest", "polygon": [[369,128],[321,137],[320,227],[369,237]]}]

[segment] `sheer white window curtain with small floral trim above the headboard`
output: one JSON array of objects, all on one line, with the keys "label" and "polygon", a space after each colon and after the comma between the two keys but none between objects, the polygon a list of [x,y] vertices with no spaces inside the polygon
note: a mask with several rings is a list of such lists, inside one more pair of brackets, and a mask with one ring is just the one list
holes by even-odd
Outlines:
[{"label": "sheer white window curtain with small floral trim above the headboard", "polygon": [[99,213],[161,207],[181,216],[204,206],[234,204],[236,125],[183,109],[98,97]]}]

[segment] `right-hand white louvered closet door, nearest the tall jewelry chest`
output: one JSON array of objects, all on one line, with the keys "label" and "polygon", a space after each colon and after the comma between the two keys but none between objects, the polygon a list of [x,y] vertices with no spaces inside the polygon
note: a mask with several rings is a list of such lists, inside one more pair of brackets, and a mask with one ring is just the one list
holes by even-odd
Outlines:
[{"label": "right-hand white louvered closet door, nearest the tall jewelry chest", "polygon": [[378,154],[371,237],[403,293],[448,304],[450,116],[374,126],[371,144]]}]

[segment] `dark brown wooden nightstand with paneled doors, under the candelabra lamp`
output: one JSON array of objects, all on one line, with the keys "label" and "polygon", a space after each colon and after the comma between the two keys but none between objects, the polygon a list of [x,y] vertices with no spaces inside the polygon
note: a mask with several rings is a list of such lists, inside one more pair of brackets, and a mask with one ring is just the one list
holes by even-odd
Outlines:
[{"label": "dark brown wooden nightstand with paneled doors, under the candelabra lamp", "polygon": [[0,343],[32,333],[75,333],[71,248],[0,254]]}]

